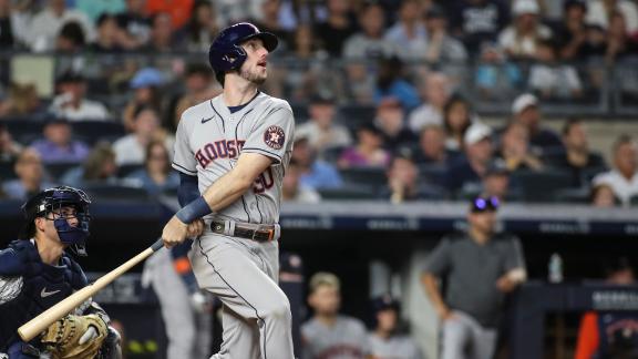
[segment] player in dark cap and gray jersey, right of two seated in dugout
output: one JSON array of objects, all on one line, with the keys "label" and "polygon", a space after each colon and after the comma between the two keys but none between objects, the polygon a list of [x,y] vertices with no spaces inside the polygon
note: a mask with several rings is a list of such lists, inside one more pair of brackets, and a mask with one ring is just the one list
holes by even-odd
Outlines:
[{"label": "player in dark cap and gray jersey, right of two seated in dugout", "polygon": [[390,295],[372,299],[374,327],[368,334],[374,359],[421,359],[421,352],[409,335],[400,328],[400,304]]}]

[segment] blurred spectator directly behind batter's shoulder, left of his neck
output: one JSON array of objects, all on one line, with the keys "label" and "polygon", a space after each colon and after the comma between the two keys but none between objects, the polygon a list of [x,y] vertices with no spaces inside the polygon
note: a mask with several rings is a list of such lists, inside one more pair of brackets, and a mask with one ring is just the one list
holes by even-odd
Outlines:
[{"label": "blurred spectator directly behind batter's shoulder, left of his neck", "polygon": [[189,64],[186,69],[184,82],[186,93],[177,100],[175,105],[175,127],[177,127],[182,119],[182,113],[186,111],[186,109],[215,98],[220,91],[218,85],[213,84],[213,71],[210,66],[203,63]]}]

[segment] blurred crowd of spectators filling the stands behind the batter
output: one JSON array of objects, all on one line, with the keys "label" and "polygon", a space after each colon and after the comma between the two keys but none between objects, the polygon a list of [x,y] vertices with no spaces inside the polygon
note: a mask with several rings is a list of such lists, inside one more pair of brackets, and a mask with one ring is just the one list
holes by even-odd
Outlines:
[{"label": "blurred crowd of spectators filling the stands behind the batter", "polygon": [[[12,51],[1,66],[14,69],[11,53],[55,54],[49,96],[44,80],[0,75],[3,195],[50,183],[174,191],[163,157],[182,112],[219,93],[203,54],[238,20],[282,42],[264,90],[296,112],[287,201],[636,203],[631,139],[606,164],[586,123],[558,134],[542,111],[587,99],[605,65],[638,54],[630,0],[0,1],[1,52]],[[469,88],[506,99],[506,119],[483,123]]]}]

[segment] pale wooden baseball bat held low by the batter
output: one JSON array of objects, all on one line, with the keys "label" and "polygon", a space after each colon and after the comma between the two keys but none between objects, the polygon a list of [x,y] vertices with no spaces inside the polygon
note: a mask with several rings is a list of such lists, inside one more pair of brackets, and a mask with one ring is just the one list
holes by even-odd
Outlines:
[{"label": "pale wooden baseball bat held low by the batter", "polygon": [[160,250],[164,246],[162,238],[157,239],[151,247],[146,248],[144,252],[140,253],[135,257],[128,259],[120,267],[109,271],[102,277],[97,278],[95,283],[88,285],[86,287],[75,291],[63,300],[59,301],[53,307],[47,309],[38,317],[29,320],[22,327],[18,328],[18,335],[24,341],[29,341],[35,338],[39,334],[49,328],[55,320],[64,317],[73,309],[78,308],[82,302],[92,297],[94,294],[100,291],[102,288],[106,287],[117,277],[126,273],[128,269],[133,268],[140,261],[148,258],[152,254]]}]

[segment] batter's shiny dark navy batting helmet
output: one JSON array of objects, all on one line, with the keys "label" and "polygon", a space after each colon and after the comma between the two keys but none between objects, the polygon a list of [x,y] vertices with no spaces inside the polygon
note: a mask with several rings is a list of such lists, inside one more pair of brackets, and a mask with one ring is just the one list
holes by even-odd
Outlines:
[{"label": "batter's shiny dark navy batting helmet", "polygon": [[261,32],[249,22],[239,22],[222,30],[208,51],[208,61],[215,73],[239,69],[247,57],[240,44],[255,38],[264,41],[268,52],[275,50],[279,43],[276,35]]}]

